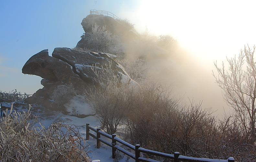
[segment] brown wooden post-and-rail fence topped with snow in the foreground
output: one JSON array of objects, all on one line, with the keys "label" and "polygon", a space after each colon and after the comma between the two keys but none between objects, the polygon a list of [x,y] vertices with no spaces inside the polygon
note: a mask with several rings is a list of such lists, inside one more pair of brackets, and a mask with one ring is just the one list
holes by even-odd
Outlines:
[{"label": "brown wooden post-and-rail fence topped with snow in the foreground", "polygon": [[[97,135],[93,135],[90,130],[96,132]],[[101,138],[101,135],[107,137],[108,139],[112,140],[112,143],[107,142]],[[150,158],[145,158],[145,157],[140,157],[140,153],[145,153],[149,155],[154,155],[157,157],[163,157],[163,158],[168,158],[168,159],[173,159],[174,162],[180,162],[180,161],[185,161],[185,162],[235,162],[235,159],[233,157],[229,157],[227,160],[221,160],[221,159],[208,159],[208,158],[198,158],[198,157],[186,157],[180,155],[179,152],[175,152],[174,154],[166,154],[158,151],[153,151],[153,150],[148,150],[145,148],[140,147],[140,145],[131,145],[120,138],[117,137],[116,134],[109,135],[105,132],[102,132],[100,129],[95,129],[90,126],[89,123],[86,123],[86,140],[89,140],[90,136],[95,138],[97,140],[97,148],[100,148],[101,142],[106,144],[107,146],[112,147],[112,158],[116,157],[116,150],[124,153],[125,155],[135,159],[136,162],[142,161],[142,162],[159,162],[154,159]],[[135,155],[122,147],[117,145],[117,142],[127,146],[128,148],[132,149],[135,151]]]}]

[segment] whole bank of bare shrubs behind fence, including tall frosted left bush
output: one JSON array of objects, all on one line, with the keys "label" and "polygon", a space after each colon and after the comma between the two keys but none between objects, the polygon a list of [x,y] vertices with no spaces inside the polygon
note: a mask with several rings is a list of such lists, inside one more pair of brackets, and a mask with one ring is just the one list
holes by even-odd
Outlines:
[{"label": "whole bank of bare shrubs behind fence, including tall frosted left bush", "polygon": [[[105,71],[106,72],[106,71]],[[130,88],[107,79],[106,86],[89,94],[89,100],[107,133],[122,128],[124,138],[147,149],[192,157],[255,160],[255,144],[236,115],[219,120],[200,103],[180,103],[169,87],[155,83]],[[108,77],[107,77],[108,76]],[[156,157],[152,157],[156,158]],[[157,158],[156,158],[157,159]]]}]

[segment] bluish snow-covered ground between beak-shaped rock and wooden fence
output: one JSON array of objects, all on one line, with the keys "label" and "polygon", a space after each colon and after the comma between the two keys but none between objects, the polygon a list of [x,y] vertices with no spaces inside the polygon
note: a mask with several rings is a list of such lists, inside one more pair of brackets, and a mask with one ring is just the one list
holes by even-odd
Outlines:
[{"label": "bluish snow-covered ground between beak-shaped rock and wooden fence", "polygon": [[[20,106],[14,106],[14,109],[17,112],[28,111],[28,109],[22,109],[23,102],[19,102]],[[3,107],[11,107],[11,103],[3,103]],[[92,114],[92,110],[90,109],[88,103],[84,103],[83,96],[74,97],[71,102],[69,102],[65,107],[68,110],[73,110],[72,107],[79,113]],[[84,110],[83,110],[84,108]],[[88,112],[87,112],[88,111]],[[52,123],[61,122],[62,124],[74,124],[78,127],[80,135],[85,139],[86,138],[86,123],[90,123],[90,126],[94,128],[98,128],[100,126],[99,122],[95,118],[95,116],[87,116],[84,118],[79,118],[76,116],[65,115],[60,112],[52,112],[52,113],[44,113],[41,111],[40,107],[32,107],[32,114],[39,116],[39,122],[42,123],[46,128],[50,126]],[[9,113],[9,112],[8,112]],[[91,133],[94,133],[91,131]],[[94,133],[96,135],[96,133]],[[117,134],[118,136],[118,134]],[[111,142],[110,139],[102,137],[104,140]],[[91,160],[99,159],[102,162],[113,162],[112,159],[112,148],[101,143],[101,147],[99,149],[96,148],[96,139],[90,137],[90,140],[87,141],[86,145],[88,146],[88,155]],[[118,161],[120,162],[133,162],[132,158],[120,153]]]}]

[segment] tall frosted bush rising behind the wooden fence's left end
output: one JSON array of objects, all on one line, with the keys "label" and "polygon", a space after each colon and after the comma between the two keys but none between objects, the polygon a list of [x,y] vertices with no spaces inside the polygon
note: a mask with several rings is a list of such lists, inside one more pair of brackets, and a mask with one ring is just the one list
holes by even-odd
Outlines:
[{"label": "tall frosted bush rising behind the wooden fence's left end", "polygon": [[124,91],[128,84],[121,83],[115,74],[116,71],[110,67],[111,63],[105,67],[92,67],[101,88],[86,91],[86,94],[101,123],[101,128],[108,134],[114,134],[125,116],[123,104],[126,93]]}]

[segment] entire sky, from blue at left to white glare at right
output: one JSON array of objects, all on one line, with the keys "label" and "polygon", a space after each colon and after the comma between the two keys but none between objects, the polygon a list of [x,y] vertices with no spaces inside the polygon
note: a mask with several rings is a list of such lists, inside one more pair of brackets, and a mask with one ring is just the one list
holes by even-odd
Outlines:
[{"label": "entire sky, from blue at left to white glare at right", "polygon": [[203,84],[188,85],[189,96],[202,96],[205,91],[197,88],[204,86],[208,95],[221,100],[220,89],[210,92],[218,88],[211,72],[213,62],[221,63],[238,55],[244,45],[255,44],[255,5],[229,0],[0,0],[0,90],[34,93],[42,88],[39,76],[21,73],[23,65],[43,49],[51,54],[55,47],[76,46],[83,34],[82,19],[90,9],[98,9],[127,18],[140,33],[147,29],[151,35],[173,36],[200,65],[201,71],[192,71],[193,76],[205,74]]}]

